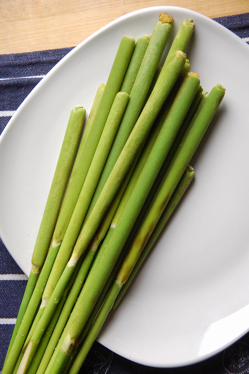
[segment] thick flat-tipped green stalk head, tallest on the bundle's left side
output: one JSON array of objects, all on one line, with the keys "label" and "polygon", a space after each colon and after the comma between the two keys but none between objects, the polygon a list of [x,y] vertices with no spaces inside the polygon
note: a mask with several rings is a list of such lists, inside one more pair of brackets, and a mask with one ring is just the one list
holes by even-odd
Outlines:
[{"label": "thick flat-tipped green stalk head, tallest on the bundle's left side", "polygon": [[104,125],[106,123],[113,100],[119,92],[122,80],[127,70],[131,54],[134,49],[135,40],[123,37],[116,53],[115,60],[110,71],[103,96],[98,105],[95,117],[92,122],[91,130],[87,137],[87,142],[82,151],[81,169],[74,175],[74,183],[67,191],[67,198],[63,200],[57,225],[54,231],[54,246],[59,245],[64,237],[67,226],[69,224],[73,208],[76,205],[79,194],[81,192],[85,177],[87,175],[89,166],[100,140]]}]

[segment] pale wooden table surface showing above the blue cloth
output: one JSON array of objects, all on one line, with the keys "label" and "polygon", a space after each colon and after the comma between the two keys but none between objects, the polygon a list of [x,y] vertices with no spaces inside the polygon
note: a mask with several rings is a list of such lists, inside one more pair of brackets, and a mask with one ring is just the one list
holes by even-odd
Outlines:
[{"label": "pale wooden table surface showing above the blue cloth", "polygon": [[115,18],[160,5],[210,18],[249,12],[248,0],[0,0],[0,54],[76,46]]}]

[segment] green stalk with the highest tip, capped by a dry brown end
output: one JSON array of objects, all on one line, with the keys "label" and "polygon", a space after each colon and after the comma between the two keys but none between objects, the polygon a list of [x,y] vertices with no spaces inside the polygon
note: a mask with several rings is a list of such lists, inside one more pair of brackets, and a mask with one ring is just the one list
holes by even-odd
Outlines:
[{"label": "green stalk with the highest tip, capped by a dry brown end", "polygon": [[125,145],[125,142],[127,141],[135,123],[137,122],[141,109],[144,105],[146,95],[151,86],[155,71],[157,70],[159,61],[166,46],[168,37],[170,36],[173,18],[169,15],[166,15],[166,13],[162,14],[164,16],[160,18],[153,30],[151,39],[145,52],[145,56],[131,89],[130,99],[124,117],[119,126],[116,138],[112,145],[112,149],[110,150],[110,154],[106,160],[106,164],[104,166],[94,196],[92,197],[92,201],[83,224],[86,223],[86,220],[89,217],[89,214],[91,213],[95,202],[97,201],[98,196],[100,195],[100,192],[104,184],[106,183],[106,180],[109,177],[119,154],[122,151],[122,148]]}]

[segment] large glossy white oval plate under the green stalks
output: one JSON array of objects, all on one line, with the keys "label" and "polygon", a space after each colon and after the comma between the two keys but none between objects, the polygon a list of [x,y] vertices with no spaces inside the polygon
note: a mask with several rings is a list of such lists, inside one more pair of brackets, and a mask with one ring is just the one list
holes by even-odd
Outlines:
[{"label": "large glossy white oval plate under the green stalks", "polygon": [[122,36],[151,34],[161,12],[194,19],[191,70],[224,101],[192,160],[195,180],[156,249],[98,338],[128,359],[174,367],[206,359],[249,328],[249,48],[203,15],[138,10],[64,57],[34,88],[0,138],[0,236],[21,269],[30,258],[70,110],[91,108]]}]

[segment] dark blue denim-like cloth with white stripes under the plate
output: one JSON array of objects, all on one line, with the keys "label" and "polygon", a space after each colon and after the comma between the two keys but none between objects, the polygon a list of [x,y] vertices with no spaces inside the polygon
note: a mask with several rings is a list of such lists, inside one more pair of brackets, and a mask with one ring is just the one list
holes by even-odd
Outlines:
[{"label": "dark blue denim-like cloth with white stripes under the plate", "polygon": [[[249,44],[249,13],[216,18]],[[0,56],[0,134],[21,102],[46,73],[72,48]],[[16,321],[27,277],[16,265],[0,239],[0,370]],[[249,373],[249,334],[224,352],[191,367],[148,368],[128,361],[95,342],[82,373]]]}]

